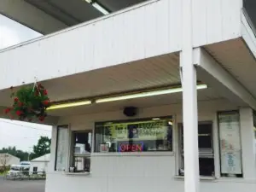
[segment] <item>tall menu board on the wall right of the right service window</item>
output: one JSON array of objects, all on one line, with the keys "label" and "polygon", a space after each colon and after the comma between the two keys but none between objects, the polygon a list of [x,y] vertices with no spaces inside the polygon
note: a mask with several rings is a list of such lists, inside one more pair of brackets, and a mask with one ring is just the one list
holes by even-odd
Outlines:
[{"label": "tall menu board on the wall right of the right service window", "polygon": [[221,173],[241,174],[241,135],[238,112],[219,113]]}]

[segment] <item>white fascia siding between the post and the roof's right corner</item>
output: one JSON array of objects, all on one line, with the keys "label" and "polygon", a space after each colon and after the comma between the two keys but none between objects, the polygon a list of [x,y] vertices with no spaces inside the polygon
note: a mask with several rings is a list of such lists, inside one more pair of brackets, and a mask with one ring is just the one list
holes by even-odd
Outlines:
[{"label": "white fascia siding between the post and the roof's right corner", "polygon": [[194,0],[194,47],[241,37],[241,8],[242,0]]}]

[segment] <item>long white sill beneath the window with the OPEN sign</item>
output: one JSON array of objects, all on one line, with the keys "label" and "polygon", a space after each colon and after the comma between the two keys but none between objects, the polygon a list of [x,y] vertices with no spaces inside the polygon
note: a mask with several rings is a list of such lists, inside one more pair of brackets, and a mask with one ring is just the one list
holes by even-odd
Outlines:
[{"label": "long white sill beneath the window with the OPEN sign", "polygon": [[174,156],[174,152],[92,153],[90,156]]}]

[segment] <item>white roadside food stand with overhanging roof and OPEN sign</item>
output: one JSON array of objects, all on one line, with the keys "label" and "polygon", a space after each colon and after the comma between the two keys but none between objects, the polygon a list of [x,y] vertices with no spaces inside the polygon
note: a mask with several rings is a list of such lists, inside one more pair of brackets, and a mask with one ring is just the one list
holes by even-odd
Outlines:
[{"label": "white roadside food stand with overhanging roof and OPEN sign", "polygon": [[0,52],[0,105],[35,78],[68,102],[46,192],[254,191],[254,1],[87,2],[0,1],[45,34]]}]

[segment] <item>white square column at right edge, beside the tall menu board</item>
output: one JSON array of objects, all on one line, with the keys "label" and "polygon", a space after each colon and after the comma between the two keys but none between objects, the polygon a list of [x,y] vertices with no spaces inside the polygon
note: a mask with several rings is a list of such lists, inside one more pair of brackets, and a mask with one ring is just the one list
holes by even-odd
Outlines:
[{"label": "white square column at right edge, beside the tall menu board", "polygon": [[256,179],[255,141],[253,131],[253,109],[240,109],[241,125],[241,162],[243,177],[251,180]]}]

